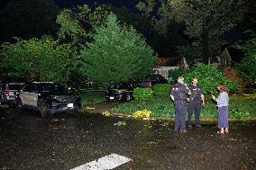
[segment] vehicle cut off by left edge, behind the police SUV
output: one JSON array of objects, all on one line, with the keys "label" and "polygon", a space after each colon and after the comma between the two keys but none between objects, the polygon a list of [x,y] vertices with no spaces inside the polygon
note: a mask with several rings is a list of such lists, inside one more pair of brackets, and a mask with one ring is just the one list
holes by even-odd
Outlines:
[{"label": "vehicle cut off by left edge, behind the police SUV", "polygon": [[0,103],[15,106],[17,102],[17,90],[24,83],[1,83],[0,84]]}]

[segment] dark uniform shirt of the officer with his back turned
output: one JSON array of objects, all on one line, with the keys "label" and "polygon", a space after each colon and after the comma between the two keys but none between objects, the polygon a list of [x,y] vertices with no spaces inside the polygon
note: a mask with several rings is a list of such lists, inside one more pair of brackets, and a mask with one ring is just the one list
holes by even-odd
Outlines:
[{"label": "dark uniform shirt of the officer with his back turned", "polygon": [[173,85],[170,91],[170,94],[174,96],[174,101],[178,100],[186,100],[187,94],[189,90],[187,89],[186,85],[182,85],[181,83],[178,83],[176,85]]}]

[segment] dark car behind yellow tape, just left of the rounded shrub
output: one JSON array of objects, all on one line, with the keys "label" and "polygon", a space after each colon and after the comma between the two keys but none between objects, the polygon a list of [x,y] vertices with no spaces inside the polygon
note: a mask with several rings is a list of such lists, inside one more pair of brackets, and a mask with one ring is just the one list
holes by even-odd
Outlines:
[{"label": "dark car behind yellow tape, just left of the rounded shrub", "polygon": [[105,99],[107,101],[132,101],[133,89],[136,87],[134,83],[120,83],[109,85],[105,92]]}]

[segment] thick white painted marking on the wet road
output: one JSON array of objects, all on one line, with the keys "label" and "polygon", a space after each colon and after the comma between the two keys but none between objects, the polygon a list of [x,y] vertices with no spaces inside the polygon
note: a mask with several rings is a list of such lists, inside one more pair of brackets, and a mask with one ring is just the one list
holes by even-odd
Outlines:
[{"label": "thick white painted marking on the wet road", "polygon": [[114,169],[114,167],[121,166],[131,159],[128,157],[119,156],[117,154],[111,154],[105,157],[99,158],[97,161],[91,161],[85,165],[75,167],[70,170],[107,170]]}]

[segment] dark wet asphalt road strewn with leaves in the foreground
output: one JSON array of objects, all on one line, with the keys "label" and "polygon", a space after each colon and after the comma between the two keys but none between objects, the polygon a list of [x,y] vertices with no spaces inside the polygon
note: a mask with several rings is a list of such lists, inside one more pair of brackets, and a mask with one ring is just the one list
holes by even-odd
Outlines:
[{"label": "dark wet asphalt road strewn with leaves in the foreground", "polygon": [[0,170],[69,170],[113,153],[132,159],[116,170],[256,169],[255,123],[233,123],[224,135],[216,130],[204,124],[181,134],[167,121],[86,113],[41,118],[2,108]]}]

